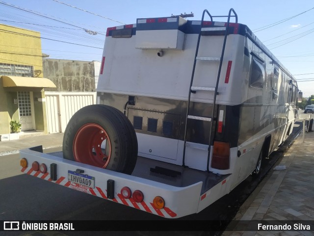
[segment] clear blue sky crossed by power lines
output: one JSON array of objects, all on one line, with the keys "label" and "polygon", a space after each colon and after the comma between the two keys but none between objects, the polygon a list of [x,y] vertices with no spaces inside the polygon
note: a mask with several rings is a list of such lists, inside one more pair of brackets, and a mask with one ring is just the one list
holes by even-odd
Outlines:
[{"label": "clear blue sky crossed by power lines", "polygon": [[205,9],[221,16],[231,8],[294,75],[303,97],[314,95],[313,0],[0,0],[0,24],[40,32],[51,59],[101,61],[108,27],[181,13],[201,20]]}]

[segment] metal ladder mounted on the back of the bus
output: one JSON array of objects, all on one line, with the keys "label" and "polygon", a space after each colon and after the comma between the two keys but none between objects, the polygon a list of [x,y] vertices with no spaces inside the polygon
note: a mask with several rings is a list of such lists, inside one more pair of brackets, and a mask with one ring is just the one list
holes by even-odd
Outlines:
[{"label": "metal ladder mounted on the back of the bus", "polygon": [[[231,15],[231,12],[234,13],[234,15]],[[213,21],[212,18],[214,17],[228,17],[228,21],[227,21],[227,26],[225,30],[225,36],[224,36],[224,42],[223,42],[223,46],[222,46],[222,52],[221,52],[221,57],[217,58],[217,57],[198,57],[198,51],[199,51],[199,45],[200,45],[200,39],[201,39],[201,33],[202,33],[202,27],[203,27],[203,22],[204,22],[204,16],[205,13],[207,13],[210,17],[211,22]],[[210,129],[209,129],[209,148],[208,148],[208,159],[207,159],[207,171],[209,172],[209,158],[210,158],[210,146],[212,145],[212,128],[213,128],[213,122],[212,120],[214,120],[214,111],[215,111],[215,104],[216,104],[216,96],[218,95],[218,84],[219,84],[219,77],[220,77],[220,72],[221,72],[221,66],[222,66],[222,61],[223,61],[223,57],[224,57],[224,53],[225,53],[225,46],[226,46],[226,40],[227,40],[227,35],[228,35],[228,29],[229,29],[229,22],[230,22],[230,18],[231,17],[235,17],[235,23],[237,23],[237,15],[235,13],[235,10],[233,8],[231,8],[229,10],[229,14],[228,16],[211,16],[209,14],[208,10],[204,10],[203,11],[203,15],[202,15],[202,21],[201,21],[201,30],[199,32],[198,35],[198,40],[197,40],[197,45],[196,45],[196,50],[195,50],[195,58],[194,58],[194,64],[193,64],[193,69],[192,69],[192,76],[191,76],[191,81],[190,81],[190,89],[188,91],[188,99],[187,99],[187,110],[186,110],[186,118],[185,118],[185,129],[184,129],[184,146],[183,146],[183,166],[185,166],[185,147],[186,147],[186,135],[187,135],[187,121],[188,119],[199,119],[199,120],[204,120],[204,121],[210,121]],[[219,69],[218,69],[218,75],[217,75],[217,80],[216,80],[216,87],[196,87],[193,86],[193,79],[194,79],[194,72],[195,72],[195,66],[196,66],[196,62],[198,60],[206,60],[209,62],[217,62],[219,61]],[[212,113],[211,113],[211,117],[197,117],[197,116],[191,116],[189,114],[190,111],[190,102],[191,102],[191,93],[196,93],[198,90],[206,90],[206,91],[214,91],[214,98],[213,98],[213,109],[212,109]]]}]

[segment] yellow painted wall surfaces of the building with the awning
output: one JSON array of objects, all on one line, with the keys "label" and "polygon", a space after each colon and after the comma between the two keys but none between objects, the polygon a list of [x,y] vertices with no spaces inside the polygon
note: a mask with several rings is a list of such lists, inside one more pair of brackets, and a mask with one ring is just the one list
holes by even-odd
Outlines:
[{"label": "yellow painted wall surfaces of the building with the awning", "polygon": [[[0,62],[18,65],[32,65],[33,77],[43,78],[42,50],[40,33],[28,29],[20,29],[0,24]],[[10,133],[9,122],[11,119],[19,120],[19,110],[14,104],[19,87],[12,89],[3,88],[0,75],[0,134]],[[29,88],[29,91],[33,91]],[[45,97],[40,93],[40,97]],[[47,132],[47,124],[41,118],[46,116],[46,107],[40,103],[34,107],[35,123],[41,130]]]}]

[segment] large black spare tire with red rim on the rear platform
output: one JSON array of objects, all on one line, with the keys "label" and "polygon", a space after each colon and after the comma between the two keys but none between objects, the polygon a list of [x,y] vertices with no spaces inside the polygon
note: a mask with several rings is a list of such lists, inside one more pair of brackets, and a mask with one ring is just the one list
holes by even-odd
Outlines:
[{"label": "large black spare tire with red rim on the rear platform", "polygon": [[64,131],[63,158],[131,175],[137,138],[130,120],[118,109],[88,105],[78,110]]}]

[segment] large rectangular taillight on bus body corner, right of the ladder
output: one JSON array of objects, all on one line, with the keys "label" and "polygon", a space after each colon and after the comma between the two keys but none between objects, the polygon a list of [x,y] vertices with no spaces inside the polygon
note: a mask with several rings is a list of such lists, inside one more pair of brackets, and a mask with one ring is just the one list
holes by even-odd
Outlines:
[{"label": "large rectangular taillight on bus body corner, right of the ladder", "polygon": [[218,170],[228,170],[230,165],[230,144],[214,142],[212,150],[211,167]]}]

